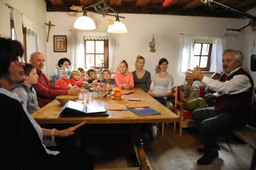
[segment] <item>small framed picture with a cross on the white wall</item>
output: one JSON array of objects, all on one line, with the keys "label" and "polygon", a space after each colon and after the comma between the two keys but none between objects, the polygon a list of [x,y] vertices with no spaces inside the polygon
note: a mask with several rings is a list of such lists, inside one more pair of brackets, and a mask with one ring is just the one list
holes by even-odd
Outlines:
[{"label": "small framed picture with a cross on the white wall", "polygon": [[66,35],[53,36],[53,51],[67,52],[67,36]]}]

